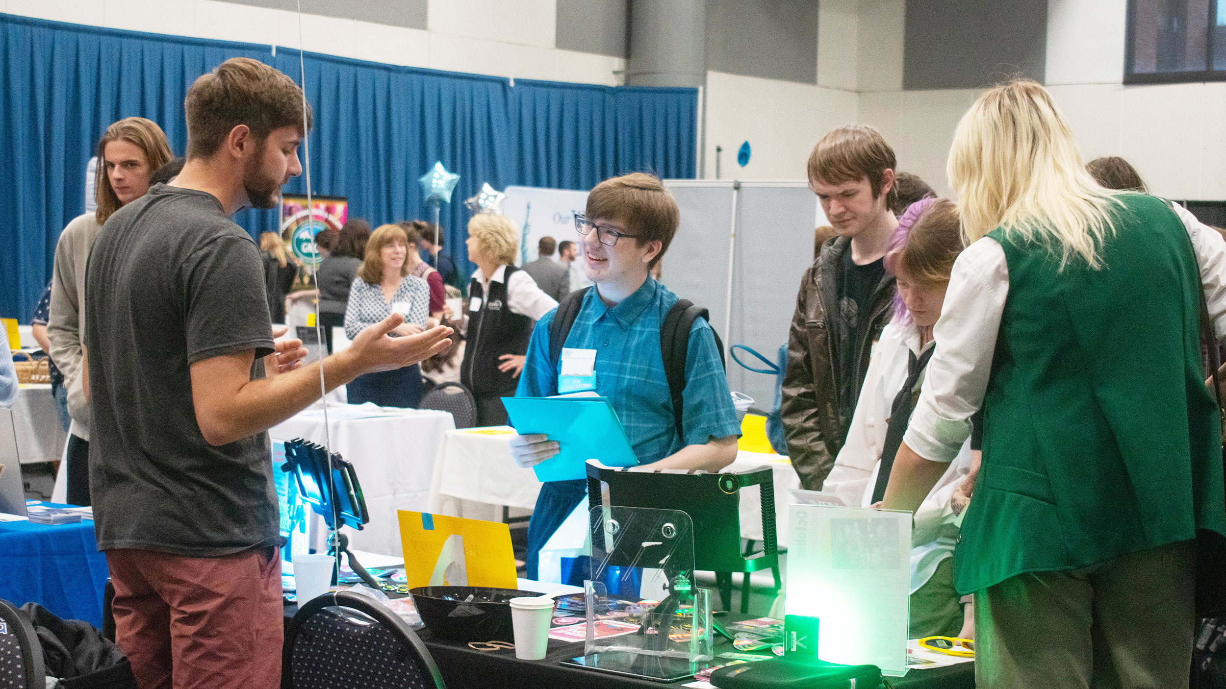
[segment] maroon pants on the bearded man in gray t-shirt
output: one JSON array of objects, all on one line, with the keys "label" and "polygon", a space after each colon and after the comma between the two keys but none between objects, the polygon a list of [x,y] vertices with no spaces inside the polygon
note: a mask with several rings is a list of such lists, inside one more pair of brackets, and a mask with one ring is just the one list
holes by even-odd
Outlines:
[{"label": "maroon pants on the bearded man in gray t-shirt", "polygon": [[219,558],[107,550],[115,642],[140,689],[281,684],[283,607],[277,548]]}]

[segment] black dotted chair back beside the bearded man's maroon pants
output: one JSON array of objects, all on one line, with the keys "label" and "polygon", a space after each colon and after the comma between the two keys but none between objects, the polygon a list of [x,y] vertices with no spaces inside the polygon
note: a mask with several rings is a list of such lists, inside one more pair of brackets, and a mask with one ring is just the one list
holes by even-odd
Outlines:
[{"label": "black dotted chair back beside the bearded man's maroon pants", "polygon": [[[354,614],[360,613],[360,614]],[[298,609],[286,629],[282,689],[445,689],[425,644],[386,606],[349,591]]]}]

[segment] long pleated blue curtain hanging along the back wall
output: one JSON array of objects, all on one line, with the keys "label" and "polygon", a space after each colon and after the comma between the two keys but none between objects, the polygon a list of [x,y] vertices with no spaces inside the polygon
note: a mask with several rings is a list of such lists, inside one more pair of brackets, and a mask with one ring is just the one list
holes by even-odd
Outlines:
[{"label": "long pleated blue curtain hanging along the back wall", "polygon": [[[0,315],[28,322],[59,233],[85,211],[85,167],[110,123],[143,116],[183,154],[183,98],[197,76],[248,56],[299,78],[295,49],[180,38],[0,13]],[[313,191],[345,196],[371,226],[429,219],[417,183],[434,161],[461,175],[443,206],[444,251],[462,271],[468,211],[488,181],[591,189],[650,170],[693,178],[698,92],[509,80],[305,54]],[[302,178],[286,192],[304,194]],[[253,234],[276,211],[243,211]]]}]

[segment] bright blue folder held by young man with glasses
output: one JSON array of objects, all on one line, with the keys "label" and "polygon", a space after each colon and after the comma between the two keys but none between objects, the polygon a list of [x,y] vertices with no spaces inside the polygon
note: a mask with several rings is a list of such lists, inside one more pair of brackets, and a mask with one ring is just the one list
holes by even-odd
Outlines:
[{"label": "bright blue folder held by young man with glasses", "polygon": [[503,397],[503,405],[516,433],[544,433],[558,441],[558,454],[532,467],[541,483],[586,478],[587,460],[611,467],[639,463],[606,397]]}]

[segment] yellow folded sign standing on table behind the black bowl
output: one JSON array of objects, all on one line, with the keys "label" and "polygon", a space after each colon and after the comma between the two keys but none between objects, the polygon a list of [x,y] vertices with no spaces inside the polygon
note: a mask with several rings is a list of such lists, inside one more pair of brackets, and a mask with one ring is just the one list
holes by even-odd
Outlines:
[{"label": "yellow folded sign standing on table behind the black bowl", "polygon": [[515,588],[511,530],[499,521],[400,512],[405,576],[418,586]]}]

